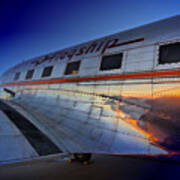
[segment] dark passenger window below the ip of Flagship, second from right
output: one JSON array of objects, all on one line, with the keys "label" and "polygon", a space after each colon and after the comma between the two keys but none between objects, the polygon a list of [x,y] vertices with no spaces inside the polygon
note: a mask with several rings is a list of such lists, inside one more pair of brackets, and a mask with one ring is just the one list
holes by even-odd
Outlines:
[{"label": "dark passenger window below the ip of Flagship, second from right", "polygon": [[112,70],[121,68],[123,53],[103,56],[101,61],[100,70]]}]

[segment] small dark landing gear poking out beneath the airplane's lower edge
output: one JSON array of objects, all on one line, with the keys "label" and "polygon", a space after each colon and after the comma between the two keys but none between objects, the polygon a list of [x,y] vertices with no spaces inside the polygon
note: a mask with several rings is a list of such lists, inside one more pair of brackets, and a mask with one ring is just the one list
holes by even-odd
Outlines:
[{"label": "small dark landing gear poking out beneath the airplane's lower edge", "polygon": [[91,156],[92,156],[91,153],[83,153],[83,154],[75,153],[73,154],[73,158],[69,159],[68,162],[71,163],[77,161],[84,165],[88,165],[91,163]]}]

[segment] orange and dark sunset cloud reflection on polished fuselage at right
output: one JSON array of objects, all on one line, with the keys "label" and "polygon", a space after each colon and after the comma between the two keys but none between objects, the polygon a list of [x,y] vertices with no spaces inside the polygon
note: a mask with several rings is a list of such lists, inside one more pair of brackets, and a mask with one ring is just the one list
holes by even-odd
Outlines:
[{"label": "orange and dark sunset cloud reflection on polished fuselage at right", "polygon": [[[172,80],[170,83],[166,80],[165,83],[156,82],[140,87],[131,85],[130,90],[122,93],[125,94],[122,98],[122,102],[125,103],[117,105],[117,115],[147,136],[151,143],[170,152],[180,151],[179,85]],[[138,88],[140,91],[137,90]],[[131,89],[134,92],[131,93]],[[149,108],[143,107],[143,104],[148,105]],[[134,112],[140,111],[139,109],[143,113],[137,117]]]}]

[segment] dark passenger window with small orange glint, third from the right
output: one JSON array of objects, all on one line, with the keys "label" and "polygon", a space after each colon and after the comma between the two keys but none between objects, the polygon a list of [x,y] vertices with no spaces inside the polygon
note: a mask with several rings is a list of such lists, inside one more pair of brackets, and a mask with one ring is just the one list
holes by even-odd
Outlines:
[{"label": "dark passenger window with small orange glint, third from the right", "polygon": [[64,75],[78,74],[80,61],[68,63]]}]

